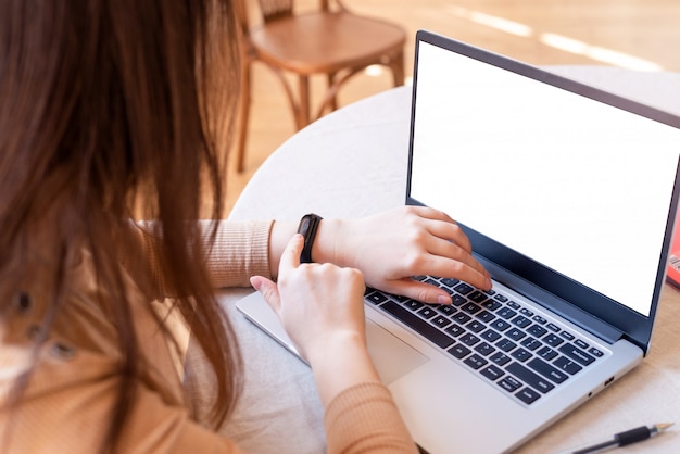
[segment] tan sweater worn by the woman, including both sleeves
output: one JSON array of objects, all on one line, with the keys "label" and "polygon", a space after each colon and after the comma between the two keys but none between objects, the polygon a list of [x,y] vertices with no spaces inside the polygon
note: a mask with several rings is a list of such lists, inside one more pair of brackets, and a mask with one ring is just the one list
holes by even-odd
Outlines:
[{"label": "tan sweater worn by the woman, including both sleeves", "polygon": [[[269,222],[221,223],[209,257],[215,287],[247,286],[250,276],[269,274],[270,227]],[[146,235],[139,234],[138,240],[141,250],[151,250]],[[40,285],[51,270],[49,264],[36,262],[35,268],[30,280],[0,283],[0,298],[13,301],[10,313],[0,318],[0,402],[5,402],[14,379],[29,361],[29,340],[39,330],[50,298]],[[0,431],[0,452],[92,453],[108,428],[122,352],[114,326],[98,305],[103,295],[93,286],[87,253],[68,272],[67,281],[67,304],[39,352],[18,411],[10,419],[0,408],[0,428],[10,429],[9,437]],[[131,278],[130,283],[134,287]],[[121,440],[122,452],[240,452],[230,440],[189,418],[171,351],[153,328],[144,304],[150,303],[140,301],[136,324],[143,354],[153,358],[155,368],[140,383]],[[389,391],[379,383],[342,392],[327,409],[325,424],[331,453],[415,449]],[[281,452],[287,452],[285,444]]]}]

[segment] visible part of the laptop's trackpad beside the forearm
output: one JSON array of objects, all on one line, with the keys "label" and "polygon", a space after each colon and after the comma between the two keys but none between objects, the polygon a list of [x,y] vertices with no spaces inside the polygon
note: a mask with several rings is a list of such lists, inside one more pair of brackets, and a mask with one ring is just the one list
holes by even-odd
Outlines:
[{"label": "visible part of the laptop's trackpad beside the forearm", "polygon": [[429,358],[366,318],[366,342],[368,353],[378,369],[385,384],[398,380]]}]

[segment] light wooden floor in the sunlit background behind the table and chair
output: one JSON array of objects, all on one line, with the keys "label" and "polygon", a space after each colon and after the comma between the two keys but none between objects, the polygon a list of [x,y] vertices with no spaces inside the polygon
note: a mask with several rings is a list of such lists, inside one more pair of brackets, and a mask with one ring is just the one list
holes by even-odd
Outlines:
[{"label": "light wooden floor in the sunlit background behind the table and chair", "polygon": [[[298,0],[299,11],[318,0]],[[408,34],[406,74],[414,36],[427,28],[537,65],[595,64],[680,72],[678,0],[344,0],[356,13],[401,24]],[[320,92],[323,79],[313,81]],[[362,74],[340,93],[347,105],[391,87],[388,74]],[[257,167],[294,134],[280,84],[254,68],[251,127],[242,174],[229,166],[227,213]],[[680,96],[680,87],[679,87]]]}]

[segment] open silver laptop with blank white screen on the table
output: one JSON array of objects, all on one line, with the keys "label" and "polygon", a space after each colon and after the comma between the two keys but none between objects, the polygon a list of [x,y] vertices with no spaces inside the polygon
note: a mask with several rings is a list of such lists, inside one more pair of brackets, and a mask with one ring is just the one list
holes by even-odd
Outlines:
[{"label": "open silver laptop with blank white screen on the table", "polygon": [[[650,351],[680,117],[420,30],[406,152],[406,204],[456,219],[493,289],[367,289],[370,354],[423,451],[512,451]],[[238,308],[294,352],[257,293]]]}]

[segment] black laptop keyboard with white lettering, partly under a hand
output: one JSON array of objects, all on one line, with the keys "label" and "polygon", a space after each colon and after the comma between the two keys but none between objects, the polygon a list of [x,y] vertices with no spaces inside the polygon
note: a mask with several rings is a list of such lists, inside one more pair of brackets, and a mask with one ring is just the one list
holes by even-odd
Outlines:
[{"label": "black laptop keyboard with white lettering, partly under a hand", "polygon": [[457,279],[417,279],[446,289],[453,304],[424,304],[370,288],[365,300],[524,404],[536,403],[605,355],[500,291],[484,292]]}]

